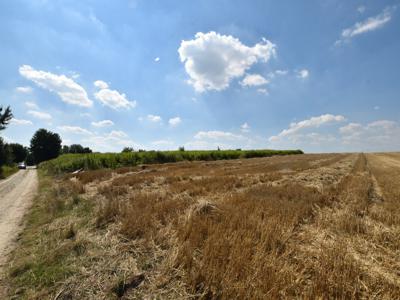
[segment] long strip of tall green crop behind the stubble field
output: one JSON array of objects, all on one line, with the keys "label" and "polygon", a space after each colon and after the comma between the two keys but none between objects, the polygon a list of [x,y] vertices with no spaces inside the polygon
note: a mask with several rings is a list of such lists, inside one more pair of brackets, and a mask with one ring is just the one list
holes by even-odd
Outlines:
[{"label": "long strip of tall green crop behind the stubble field", "polygon": [[170,163],[178,161],[212,161],[273,155],[303,154],[301,150],[213,150],[213,151],[145,151],[130,153],[66,154],[43,162],[40,168],[50,174],[72,172],[78,169],[96,170],[120,168],[140,164]]}]

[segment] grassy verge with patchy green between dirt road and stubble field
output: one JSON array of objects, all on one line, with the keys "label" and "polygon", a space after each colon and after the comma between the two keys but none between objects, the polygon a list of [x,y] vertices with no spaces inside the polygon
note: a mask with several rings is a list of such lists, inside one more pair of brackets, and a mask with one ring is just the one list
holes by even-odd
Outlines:
[{"label": "grassy verge with patchy green between dirt road and stubble field", "polygon": [[39,193],[6,274],[10,297],[52,299],[49,293],[76,272],[76,261],[86,249],[77,232],[92,211],[79,193],[78,185],[60,184],[39,170]]}]

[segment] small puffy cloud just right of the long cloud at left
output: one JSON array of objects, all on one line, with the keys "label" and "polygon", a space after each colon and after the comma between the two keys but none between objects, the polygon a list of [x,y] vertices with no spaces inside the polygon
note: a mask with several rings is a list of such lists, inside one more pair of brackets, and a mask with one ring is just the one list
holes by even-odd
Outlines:
[{"label": "small puffy cloud just right of the long cloud at left", "polygon": [[100,88],[100,90],[94,94],[94,97],[103,105],[115,110],[120,108],[130,109],[136,107],[136,101],[129,101],[125,94],[121,94],[116,90],[110,90],[108,84],[104,81],[97,80],[94,84],[96,87]]}]

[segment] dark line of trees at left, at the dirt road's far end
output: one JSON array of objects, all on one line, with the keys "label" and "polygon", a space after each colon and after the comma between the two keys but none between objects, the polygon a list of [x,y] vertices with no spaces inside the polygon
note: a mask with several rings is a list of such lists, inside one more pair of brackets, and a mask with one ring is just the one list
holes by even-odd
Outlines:
[{"label": "dark line of trees at left, at the dirt road's far end", "polygon": [[[12,118],[11,108],[8,106],[4,109],[0,106],[0,132],[7,128]],[[62,146],[59,134],[44,128],[34,133],[29,147],[18,143],[6,143],[0,137],[0,176],[4,165],[12,166],[20,162],[34,165],[68,153],[92,153],[92,150],[79,144]]]}]

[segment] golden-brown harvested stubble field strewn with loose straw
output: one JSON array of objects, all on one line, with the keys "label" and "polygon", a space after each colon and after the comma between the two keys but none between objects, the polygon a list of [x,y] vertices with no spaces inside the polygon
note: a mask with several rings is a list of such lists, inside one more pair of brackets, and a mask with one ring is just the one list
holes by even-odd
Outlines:
[{"label": "golden-brown harvested stubble field strewn with loose straw", "polygon": [[[34,212],[48,217],[31,231],[28,224],[11,291],[57,299],[398,299],[399,201],[397,153],[65,176],[47,182],[38,199]],[[38,280],[37,270],[49,267],[62,276]]]}]

